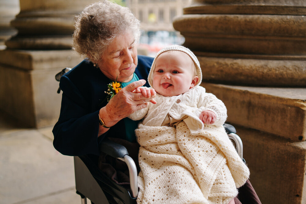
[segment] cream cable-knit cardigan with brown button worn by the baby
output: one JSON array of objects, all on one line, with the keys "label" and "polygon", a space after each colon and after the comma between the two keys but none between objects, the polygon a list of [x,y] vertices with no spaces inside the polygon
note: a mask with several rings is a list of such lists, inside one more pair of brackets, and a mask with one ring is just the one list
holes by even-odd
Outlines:
[{"label": "cream cable-knit cardigan with brown button worn by the baby", "polygon": [[162,96],[156,94],[156,104],[149,103],[149,106],[140,109],[131,115],[132,120],[141,120],[142,124],[148,126],[161,126],[169,113],[175,119],[189,116],[184,121],[192,133],[204,128],[203,122],[199,119],[203,110],[210,110],[217,116],[215,126],[222,126],[226,121],[226,107],[215,95],[206,93],[205,88],[195,86],[187,92],[177,96]]}]

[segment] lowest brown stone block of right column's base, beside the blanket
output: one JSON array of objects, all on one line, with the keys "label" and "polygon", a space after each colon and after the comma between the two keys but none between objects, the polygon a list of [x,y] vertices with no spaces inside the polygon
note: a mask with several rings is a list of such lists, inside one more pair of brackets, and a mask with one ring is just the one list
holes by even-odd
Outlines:
[{"label": "lowest brown stone block of right column's base, beside the blanket", "polygon": [[235,125],[250,181],[262,203],[306,203],[306,142]]}]

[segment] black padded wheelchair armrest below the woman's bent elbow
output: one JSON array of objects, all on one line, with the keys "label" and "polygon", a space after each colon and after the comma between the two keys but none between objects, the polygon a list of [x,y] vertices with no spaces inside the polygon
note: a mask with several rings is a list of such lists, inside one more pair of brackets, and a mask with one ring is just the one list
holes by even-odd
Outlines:
[{"label": "black padded wheelchair armrest below the woman's bent elbow", "polygon": [[103,139],[99,145],[99,150],[114,158],[123,158],[125,155],[129,155],[128,150],[123,145],[115,143],[108,138]]}]

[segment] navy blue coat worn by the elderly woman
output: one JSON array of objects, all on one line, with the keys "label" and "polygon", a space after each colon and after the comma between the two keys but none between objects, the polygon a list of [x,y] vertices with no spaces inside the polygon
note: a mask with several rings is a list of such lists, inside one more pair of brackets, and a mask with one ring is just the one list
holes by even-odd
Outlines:
[{"label": "navy blue coat worn by the elderly woman", "polygon": [[[138,55],[135,73],[139,79],[147,81],[152,62],[152,57]],[[125,139],[124,120],[98,138],[98,114],[100,108],[106,106],[106,103],[101,105],[101,100],[106,98],[104,91],[108,83],[111,80],[88,60],[83,60],[61,77],[61,113],[52,130],[53,145],[60,153],[70,156],[99,155],[98,145],[106,135]],[[149,87],[149,84],[144,86]]]}]

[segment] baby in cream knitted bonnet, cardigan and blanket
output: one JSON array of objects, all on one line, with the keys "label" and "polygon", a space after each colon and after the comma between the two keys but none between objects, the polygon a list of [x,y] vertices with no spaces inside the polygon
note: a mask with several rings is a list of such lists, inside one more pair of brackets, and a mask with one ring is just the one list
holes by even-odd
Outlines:
[{"label": "baby in cream knitted bonnet, cardigan and blanket", "polygon": [[[200,63],[183,46],[156,54],[148,82],[156,104],[129,118],[140,144],[138,203],[234,203],[249,176],[223,128],[226,107],[199,86]],[[135,90],[146,97],[147,87]]]}]

